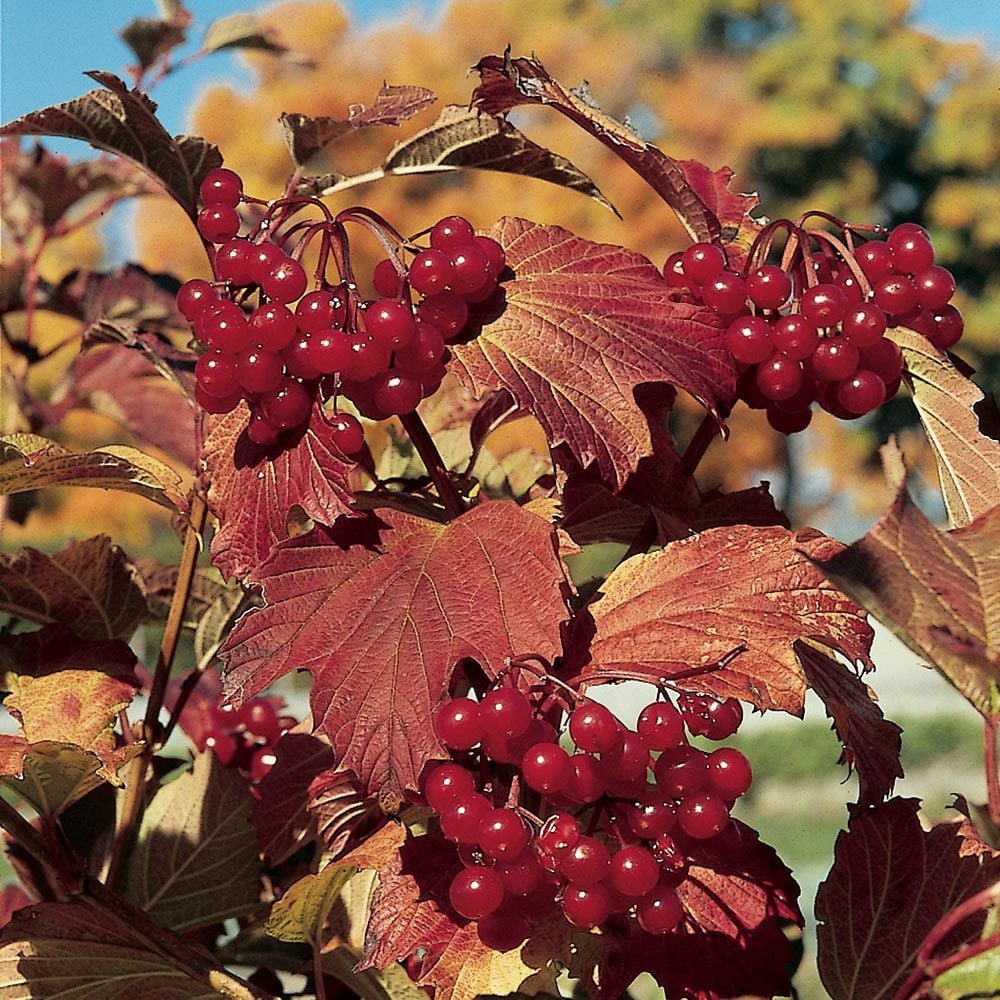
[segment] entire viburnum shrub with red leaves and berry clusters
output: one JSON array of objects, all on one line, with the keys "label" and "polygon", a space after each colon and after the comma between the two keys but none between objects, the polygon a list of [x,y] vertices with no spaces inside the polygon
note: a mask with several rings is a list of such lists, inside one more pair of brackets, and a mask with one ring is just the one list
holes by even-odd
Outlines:
[{"label": "entire viburnum shrub with red leaves and berry clusters", "polygon": [[[146,50],[137,84],[169,50]],[[172,513],[184,547],[163,566],[97,535],[0,563],[16,724],[0,736],[0,825],[20,880],[0,908],[0,983],[471,1000],[554,995],[565,974],[611,1000],[649,973],[670,997],[791,995],[799,890],[739,818],[754,765],[738,737],[751,710],[801,715],[811,688],[858,776],[816,901],[824,985],[986,995],[1000,444],[948,353],[954,278],[918,225],[819,210],[761,223],[727,170],[642,142],[536,59],[476,69],[470,107],[403,139],[383,173],[459,163],[602,200],[507,120],[544,104],[647,180],[690,244],[660,268],[513,216],[479,229],[419,203],[392,221],[333,207],[352,179],[307,162],[425,110],[420,87],[386,86],[349,121],[282,116],[294,166],[274,197],[206,141],[169,136],[110,74],[3,127],[121,159],[77,169],[5,139],[20,286],[4,294],[23,322],[4,327],[2,493],[135,493]],[[157,187],[186,212],[204,274],[40,280],[39,247]],[[44,311],[75,317],[87,348],[65,406],[29,379]],[[793,531],[766,485],[726,495],[695,478],[736,406],[793,434],[816,407],[853,420],[901,388],[947,530],[911,501],[894,445],[896,498],[850,546]],[[679,391],[705,410],[683,441]],[[132,446],[44,436],[98,397],[193,481]],[[535,418],[551,463],[484,472],[515,415]],[[606,542],[596,585],[575,579],[574,557]],[[868,613],[983,715],[985,807],[960,800],[929,826],[890,797],[900,730],[862,679]],[[149,621],[162,639],[147,668],[129,642]],[[190,665],[172,673],[179,644]],[[301,719],[265,693],[293,671],[311,681]],[[634,719],[604,703],[623,681],[644,685]]]}]

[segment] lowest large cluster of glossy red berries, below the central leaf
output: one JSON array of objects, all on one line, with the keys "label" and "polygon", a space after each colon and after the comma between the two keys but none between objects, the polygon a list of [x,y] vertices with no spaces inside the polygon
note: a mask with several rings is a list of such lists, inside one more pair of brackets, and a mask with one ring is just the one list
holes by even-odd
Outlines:
[{"label": "lowest large cluster of glossy red berries, below the central leaf", "polygon": [[435,722],[455,760],[430,768],[423,792],[464,865],[451,905],[499,950],[522,943],[556,906],[577,927],[634,914],[649,933],[673,930],[684,918],[686,847],[730,827],[752,779],[738,750],[700,750],[685,726],[719,740],[742,719],[735,699],[681,694],[676,706],[647,705],[631,730],[581,699],[567,752],[517,688],[449,701]]}]

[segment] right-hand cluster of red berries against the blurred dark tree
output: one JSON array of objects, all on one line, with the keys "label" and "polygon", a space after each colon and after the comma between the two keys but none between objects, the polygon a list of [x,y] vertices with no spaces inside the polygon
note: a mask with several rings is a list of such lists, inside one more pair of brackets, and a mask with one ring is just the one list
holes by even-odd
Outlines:
[{"label": "right-hand cluster of red berries against the blurred dark tree", "polygon": [[941,350],[963,330],[950,304],[955,279],[934,263],[921,226],[903,223],[853,251],[830,239],[810,253],[806,243],[788,270],[764,263],[736,273],[714,243],[672,254],[664,266],[668,284],[729,320],[726,347],[745,366],[740,398],[766,409],[786,434],[809,424],[814,402],[853,420],[895,396],[903,359],[885,338],[889,326],[916,330]]}]

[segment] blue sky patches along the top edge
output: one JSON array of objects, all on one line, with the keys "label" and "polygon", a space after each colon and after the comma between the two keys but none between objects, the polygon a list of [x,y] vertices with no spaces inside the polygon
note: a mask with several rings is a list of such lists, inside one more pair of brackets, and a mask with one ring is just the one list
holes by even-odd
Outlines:
[{"label": "blue sky patches along the top edge", "polygon": [[[498,0],[502,2],[502,0]],[[131,18],[154,16],[154,0],[2,0],[0,15],[0,119],[10,121],[36,108],[77,97],[93,84],[88,69],[121,73],[130,52],[118,30]],[[189,0],[196,21],[191,38],[217,17],[259,8],[255,0]],[[391,18],[414,8],[433,11],[439,0],[346,0],[358,24]],[[917,22],[961,38],[981,38],[1000,49],[1000,3],[997,0],[922,0]],[[160,115],[172,132],[184,131],[184,109],[206,81],[245,78],[239,56],[218,53],[175,76],[155,92]],[[80,155],[78,143],[51,143]]]}]

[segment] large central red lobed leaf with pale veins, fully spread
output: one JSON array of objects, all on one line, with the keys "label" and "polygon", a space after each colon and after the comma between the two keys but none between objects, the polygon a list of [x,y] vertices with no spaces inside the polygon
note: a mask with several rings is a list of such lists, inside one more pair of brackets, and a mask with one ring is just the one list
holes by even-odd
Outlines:
[{"label": "large central red lobed leaf with pale veins, fully spread", "polygon": [[445,756],[431,720],[461,657],[490,676],[529,650],[551,658],[567,615],[552,527],[517,504],[447,525],[383,518],[279,545],[254,575],[267,606],[220,651],[237,704],[290,670],[311,673],[316,730],[369,793],[415,789]]}]

